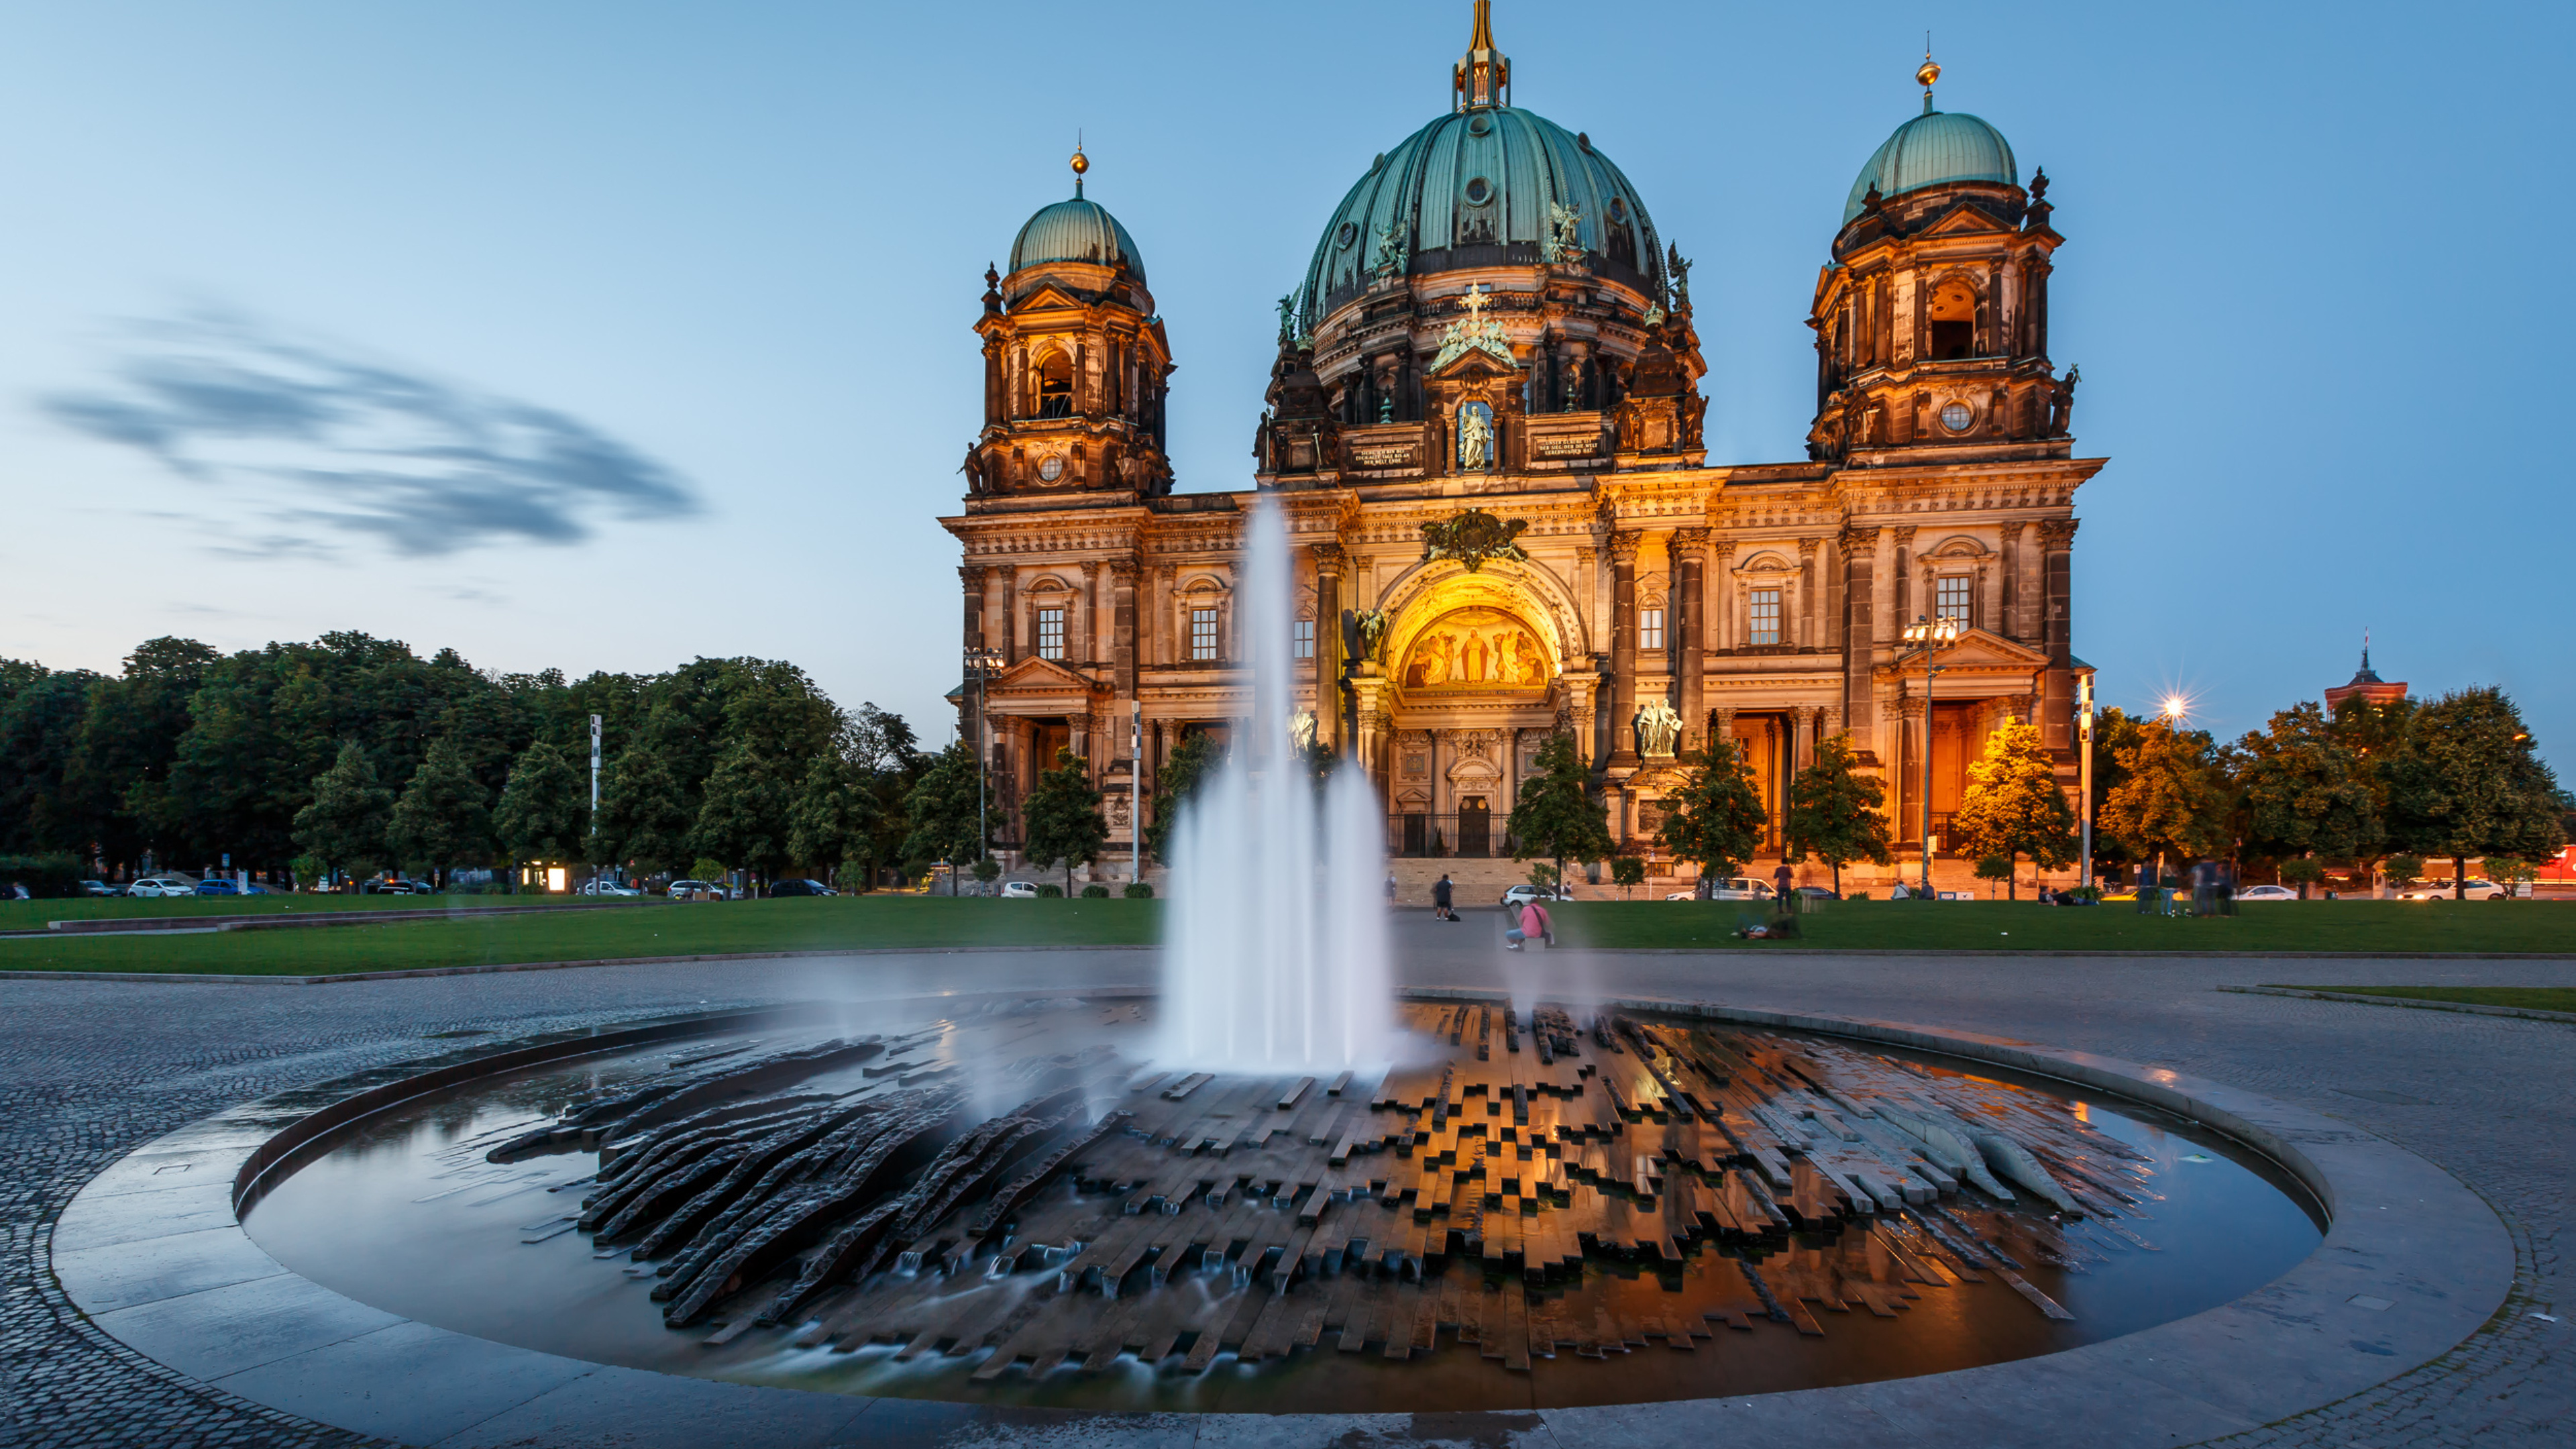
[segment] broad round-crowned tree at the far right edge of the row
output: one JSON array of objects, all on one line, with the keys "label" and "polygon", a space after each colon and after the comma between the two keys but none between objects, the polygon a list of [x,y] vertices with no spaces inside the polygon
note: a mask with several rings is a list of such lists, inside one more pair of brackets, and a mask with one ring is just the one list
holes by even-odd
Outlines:
[{"label": "broad round-crowned tree at the far right edge of the row", "polygon": [[2388,825],[2409,853],[2450,856],[2465,895],[2470,856],[2555,856],[2558,779],[2501,688],[2463,688],[2414,717],[2388,766]]}]

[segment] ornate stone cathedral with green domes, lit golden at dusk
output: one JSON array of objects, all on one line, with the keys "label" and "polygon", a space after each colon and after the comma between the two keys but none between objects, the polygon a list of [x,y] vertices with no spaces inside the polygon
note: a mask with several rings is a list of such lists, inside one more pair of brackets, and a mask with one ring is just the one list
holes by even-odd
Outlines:
[{"label": "ornate stone cathedral with green domes, lit golden at dusk", "polygon": [[[1935,108],[1937,77],[1927,59],[1922,113],[1832,229],[1816,418],[1806,459],[1775,464],[1708,459],[1690,263],[1592,137],[1512,106],[1489,0],[1448,113],[1368,162],[1280,302],[1249,492],[1172,492],[1172,351],[1077,155],[1074,196],[984,273],[984,428],[940,521],[987,660],[997,843],[1074,750],[1123,846],[1131,717],[1151,797],[1188,732],[1249,709],[1255,495],[1293,547],[1314,737],[1368,768],[1388,856],[1510,853],[1556,730],[1638,856],[1713,737],[1752,763],[1772,851],[1788,779],[1832,735],[1886,781],[1904,853],[1924,779],[1940,853],[2007,717],[2040,722],[2071,786],[2074,495],[2107,459],[2074,456],[2076,371],[2048,358],[2048,175]],[[1955,621],[1937,673],[1901,637],[1917,619]]]}]

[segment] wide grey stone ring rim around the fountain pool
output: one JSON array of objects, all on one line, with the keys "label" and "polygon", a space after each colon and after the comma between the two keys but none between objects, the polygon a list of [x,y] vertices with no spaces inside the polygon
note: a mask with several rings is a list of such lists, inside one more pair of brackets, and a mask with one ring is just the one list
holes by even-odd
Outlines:
[{"label": "wide grey stone ring rim around the fountain pool", "polygon": [[[966,1003],[1033,993],[912,998]],[[1141,987],[1064,993],[1151,998]],[[1404,990],[1414,1000],[1504,1000]],[[899,1003],[886,1003],[899,1006]],[[1752,1397],[1440,1415],[1224,1415],[984,1408],[747,1387],[538,1354],[412,1323],[286,1271],[240,1225],[260,1173],[348,1122],[464,1080],[657,1039],[793,1018],[757,1008],[482,1044],[258,1101],[144,1142],[52,1225],[70,1302],[129,1348],[222,1392],[410,1444],[760,1441],[940,1444],[1059,1431],[1136,1439],[1257,1434],[1265,1444],[1517,1441],[1613,1434],[1638,1449],[1705,1441],[1713,1423],[1811,1444],[1919,1436],[1978,1444],[2190,1444],[2239,1434],[2406,1374],[2486,1325],[2512,1292],[2514,1245],[2494,1209],[2429,1160],[2331,1116],[2089,1052],[1819,1013],[1623,998],[1607,1008],[1703,1016],[1937,1052],[2074,1083],[2187,1116],[2298,1178],[2326,1240],[2228,1305],[2102,1343],[1978,1369]],[[1723,1415],[1723,1418],[1713,1418]],[[618,1439],[631,1434],[639,1439]]]}]

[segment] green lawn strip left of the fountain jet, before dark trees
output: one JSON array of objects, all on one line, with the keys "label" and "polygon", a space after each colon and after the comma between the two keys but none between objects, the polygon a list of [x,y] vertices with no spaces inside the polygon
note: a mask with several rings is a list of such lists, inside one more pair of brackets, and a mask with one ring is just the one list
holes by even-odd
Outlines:
[{"label": "green lawn strip left of the fountain jet, before dark trees", "polygon": [[0,969],[304,977],[726,951],[1133,946],[1157,941],[1159,931],[1162,915],[1151,900],[945,900],[927,895],[701,900],[623,910],[489,915],[482,920],[466,913],[456,920],[397,920],[319,931],[18,936],[0,941]]}]

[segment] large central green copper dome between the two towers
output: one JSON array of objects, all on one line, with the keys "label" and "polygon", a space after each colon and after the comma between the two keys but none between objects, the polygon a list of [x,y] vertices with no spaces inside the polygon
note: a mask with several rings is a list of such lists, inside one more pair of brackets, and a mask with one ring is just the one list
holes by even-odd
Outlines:
[{"label": "large central green copper dome between the two towers", "polygon": [[1662,242],[1618,165],[1546,116],[1473,106],[1404,137],[1350,188],[1314,245],[1306,320],[1365,289],[1388,232],[1414,276],[1535,266],[1551,204],[1579,214],[1582,250],[1605,258],[1613,278],[1662,294]]}]

